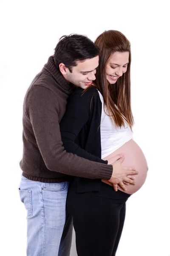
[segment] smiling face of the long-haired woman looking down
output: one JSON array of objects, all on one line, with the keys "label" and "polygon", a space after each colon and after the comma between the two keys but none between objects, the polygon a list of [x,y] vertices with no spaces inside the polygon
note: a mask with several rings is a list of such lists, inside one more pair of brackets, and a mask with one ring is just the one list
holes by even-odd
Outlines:
[{"label": "smiling face of the long-haired woman looking down", "polygon": [[114,52],[106,65],[106,78],[110,84],[115,84],[117,79],[127,71],[129,52]]}]

